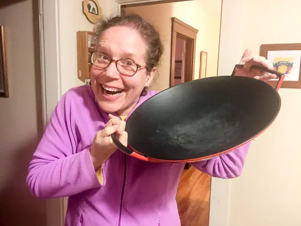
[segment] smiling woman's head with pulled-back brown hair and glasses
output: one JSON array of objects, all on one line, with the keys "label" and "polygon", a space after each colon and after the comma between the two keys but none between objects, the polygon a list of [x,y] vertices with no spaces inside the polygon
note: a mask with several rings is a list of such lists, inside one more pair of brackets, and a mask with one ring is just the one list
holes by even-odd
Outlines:
[{"label": "smiling woman's head with pulled-back brown hair and glasses", "polygon": [[91,58],[92,89],[103,110],[127,115],[154,78],[163,54],[160,36],[135,16],[101,20],[94,31],[99,41]]}]

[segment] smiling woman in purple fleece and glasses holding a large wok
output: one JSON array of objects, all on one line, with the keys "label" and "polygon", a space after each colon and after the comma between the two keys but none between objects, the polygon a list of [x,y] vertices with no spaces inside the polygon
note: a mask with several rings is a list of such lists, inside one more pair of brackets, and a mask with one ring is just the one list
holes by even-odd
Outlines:
[{"label": "smiling woman in purple fleece and glasses holding a large wok", "polygon": [[[116,150],[127,144],[124,119],[155,91],[147,91],[163,54],[159,34],[137,15],[95,27],[91,86],[65,93],[30,162],[27,182],[41,198],[69,196],[65,225],[180,225],[176,203],[184,163],[149,163]],[[237,75],[269,79],[253,64],[270,67],[246,50]],[[213,177],[241,174],[250,144],[191,163]]]}]

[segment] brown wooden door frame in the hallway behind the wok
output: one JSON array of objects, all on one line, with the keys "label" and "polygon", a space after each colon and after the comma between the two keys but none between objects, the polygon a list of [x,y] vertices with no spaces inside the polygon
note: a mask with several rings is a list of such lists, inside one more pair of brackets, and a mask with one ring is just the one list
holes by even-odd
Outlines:
[{"label": "brown wooden door frame in the hallway behind the wok", "polygon": [[[184,82],[191,81],[194,79],[197,33],[197,29],[191,27],[190,25],[184,23],[183,21],[180,21],[175,17],[172,18],[170,87],[175,85],[175,59],[177,36],[185,39],[188,47],[186,51],[187,60],[185,65],[185,74],[190,76],[185,76]],[[190,50],[192,50],[192,52]]]}]

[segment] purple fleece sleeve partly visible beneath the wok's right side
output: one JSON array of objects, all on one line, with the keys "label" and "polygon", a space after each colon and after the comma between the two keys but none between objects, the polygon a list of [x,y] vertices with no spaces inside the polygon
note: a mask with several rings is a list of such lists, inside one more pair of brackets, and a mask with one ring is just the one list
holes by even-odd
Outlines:
[{"label": "purple fleece sleeve partly visible beneath the wok's right side", "polygon": [[212,177],[223,179],[238,177],[241,175],[249,148],[250,142],[227,154],[189,164]]}]

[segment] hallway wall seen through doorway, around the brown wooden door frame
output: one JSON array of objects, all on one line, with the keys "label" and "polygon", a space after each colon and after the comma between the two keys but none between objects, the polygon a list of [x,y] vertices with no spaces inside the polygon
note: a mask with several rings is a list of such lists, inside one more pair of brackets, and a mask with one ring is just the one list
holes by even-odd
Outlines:
[{"label": "hallway wall seen through doorway, around the brown wooden door frame", "polygon": [[152,85],[152,89],[161,91],[169,87],[172,17],[176,17],[199,30],[195,58],[195,79],[199,78],[201,51],[208,52],[207,76],[217,75],[221,0],[196,0],[129,7],[126,8],[126,14],[129,13],[138,13],[145,20],[152,23],[160,31],[165,45],[162,65],[159,68],[159,77],[156,83]]}]

